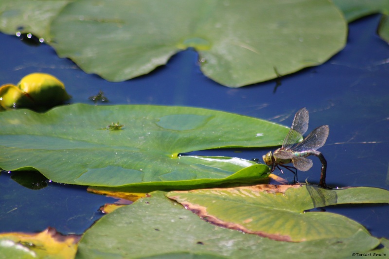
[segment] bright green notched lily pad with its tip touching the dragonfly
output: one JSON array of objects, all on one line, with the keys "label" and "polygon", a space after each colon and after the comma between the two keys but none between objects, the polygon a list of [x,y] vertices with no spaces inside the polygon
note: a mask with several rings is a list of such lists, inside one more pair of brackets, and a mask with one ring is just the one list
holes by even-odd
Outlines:
[{"label": "bright green notched lily pad with its tip touching the dragonfly", "polygon": [[[112,130],[112,121],[124,126]],[[56,182],[92,186],[250,183],[267,177],[268,167],[178,154],[280,145],[287,132],[272,122],[190,107],[73,104],[44,114],[20,109],[0,113],[0,167],[36,169]]]}]

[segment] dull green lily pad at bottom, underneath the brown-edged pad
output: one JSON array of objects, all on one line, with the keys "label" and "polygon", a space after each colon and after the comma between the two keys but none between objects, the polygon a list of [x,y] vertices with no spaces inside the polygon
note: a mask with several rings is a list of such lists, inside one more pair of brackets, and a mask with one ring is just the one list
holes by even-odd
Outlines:
[{"label": "dull green lily pad at bottom, underneath the brown-edged pad", "polygon": [[364,230],[347,238],[279,242],[214,226],[153,192],[89,228],[76,258],[346,258],[378,244]]}]

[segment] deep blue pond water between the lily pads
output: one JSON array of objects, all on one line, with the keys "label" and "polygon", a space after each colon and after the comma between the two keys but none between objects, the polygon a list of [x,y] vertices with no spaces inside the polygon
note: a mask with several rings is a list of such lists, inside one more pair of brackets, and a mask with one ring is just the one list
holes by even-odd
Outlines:
[{"label": "deep blue pond water between the lily pads", "polygon": [[[92,104],[88,97],[102,90],[109,104],[195,106],[287,126],[295,112],[306,107],[310,112],[308,132],[319,125],[330,126],[327,142],[320,149],[328,163],[328,185],[389,189],[389,46],[375,34],[379,19],[374,15],[351,23],[346,48],[325,64],[284,76],[279,86],[269,81],[242,88],[221,86],[203,76],[193,50],[176,54],[166,66],[148,75],[111,83],[86,74],[71,60],[58,58],[45,44],[30,46],[17,36],[0,34],[0,84],[16,84],[24,75],[39,71],[63,81],[72,103]],[[262,158],[270,150],[274,149],[194,153],[251,159]],[[313,161],[310,171],[299,173],[301,182],[318,183],[321,164],[316,157]],[[51,182],[47,188],[30,190],[11,175],[0,174],[0,232],[42,231],[52,226],[63,234],[81,234],[103,215],[100,206],[115,201],[88,193],[86,187]],[[293,180],[291,173],[282,176]],[[388,205],[326,210],[356,220],[373,236],[389,238]]]}]

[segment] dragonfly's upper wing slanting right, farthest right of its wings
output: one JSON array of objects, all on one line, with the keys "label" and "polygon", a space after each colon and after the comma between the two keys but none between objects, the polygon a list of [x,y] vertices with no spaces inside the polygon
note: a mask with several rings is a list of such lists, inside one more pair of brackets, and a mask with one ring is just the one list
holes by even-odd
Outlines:
[{"label": "dragonfly's upper wing slanting right, farthest right of its wings", "polygon": [[328,125],[323,125],[314,129],[301,143],[297,144],[292,150],[304,152],[309,150],[317,150],[322,147],[327,140],[330,128]]}]

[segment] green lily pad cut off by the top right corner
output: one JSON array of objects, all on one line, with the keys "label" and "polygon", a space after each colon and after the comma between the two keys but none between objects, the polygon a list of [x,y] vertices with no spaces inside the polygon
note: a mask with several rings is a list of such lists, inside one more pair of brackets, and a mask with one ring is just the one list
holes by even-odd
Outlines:
[{"label": "green lily pad cut off by the top right corner", "polygon": [[389,1],[388,0],[333,0],[344,13],[345,18],[352,22],[361,17],[382,13],[378,34],[389,42]]}]

